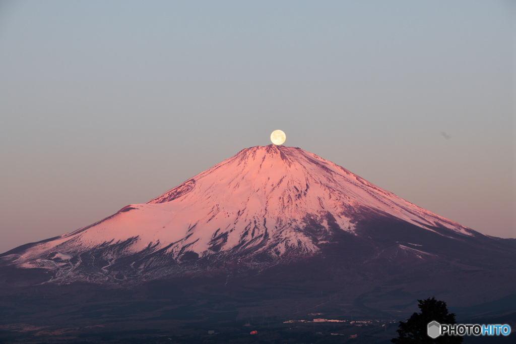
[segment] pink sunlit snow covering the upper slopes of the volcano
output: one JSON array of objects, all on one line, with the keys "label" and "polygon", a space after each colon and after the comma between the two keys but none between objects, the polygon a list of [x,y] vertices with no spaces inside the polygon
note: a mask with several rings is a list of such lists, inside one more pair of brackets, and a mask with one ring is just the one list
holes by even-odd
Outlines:
[{"label": "pink sunlit snow covering the upper slopes of the volcano", "polygon": [[[353,233],[354,217],[363,209],[391,215],[432,230],[445,227],[470,234],[470,230],[380,189],[345,168],[300,148],[257,146],[209,168],[152,199],[134,204],[88,227],[37,244],[28,249],[19,264],[34,261],[50,252],[66,255],[105,244],[133,240],[127,254],[148,247],[167,248],[178,258],[181,252],[199,256],[234,247],[267,249],[278,256],[289,247],[311,254],[318,251],[313,239],[299,228],[310,218]],[[270,247],[269,247],[270,249]],[[39,261],[39,265],[43,263]],[[43,264],[44,265],[44,264]]]}]

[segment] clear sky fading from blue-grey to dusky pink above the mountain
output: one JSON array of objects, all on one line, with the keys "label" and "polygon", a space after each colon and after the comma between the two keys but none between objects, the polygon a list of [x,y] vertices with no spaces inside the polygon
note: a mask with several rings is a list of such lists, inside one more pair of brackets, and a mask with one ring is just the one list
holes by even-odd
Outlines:
[{"label": "clear sky fading from blue-grey to dusky pink above the mountain", "polygon": [[0,252],[252,146],[516,237],[511,1],[2,1]]}]

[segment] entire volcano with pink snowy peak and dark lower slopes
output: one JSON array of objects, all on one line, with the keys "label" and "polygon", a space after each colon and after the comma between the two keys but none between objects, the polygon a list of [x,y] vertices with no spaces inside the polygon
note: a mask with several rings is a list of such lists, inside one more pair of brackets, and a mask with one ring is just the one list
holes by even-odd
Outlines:
[{"label": "entire volcano with pink snowy peak and dark lower slopes", "polygon": [[503,323],[516,315],[515,281],[515,239],[447,220],[300,148],[258,146],[146,204],[1,254],[0,339],[104,341],[123,330],[122,342],[135,331],[141,342],[156,333],[202,342],[197,329],[241,332],[260,314],[261,333],[334,342],[282,326],[323,314],[401,320],[432,295],[458,319]]}]

